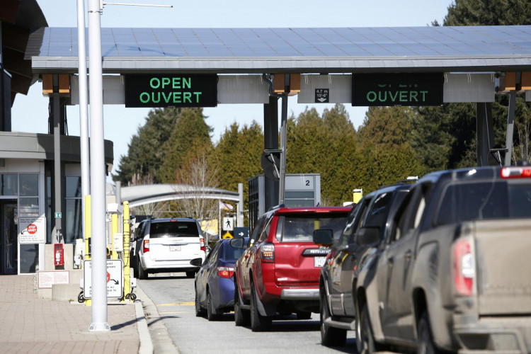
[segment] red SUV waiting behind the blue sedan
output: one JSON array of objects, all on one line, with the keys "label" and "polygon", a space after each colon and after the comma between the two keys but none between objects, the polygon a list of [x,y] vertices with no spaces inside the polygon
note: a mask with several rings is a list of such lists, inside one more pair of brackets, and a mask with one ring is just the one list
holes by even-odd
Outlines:
[{"label": "red SUV waiting behind the blue sedan", "polygon": [[275,314],[310,319],[319,313],[319,272],[328,248],[313,242],[315,229],[337,239],[351,207],[276,207],[254,227],[234,268],[234,320],[253,331],[269,329]]}]

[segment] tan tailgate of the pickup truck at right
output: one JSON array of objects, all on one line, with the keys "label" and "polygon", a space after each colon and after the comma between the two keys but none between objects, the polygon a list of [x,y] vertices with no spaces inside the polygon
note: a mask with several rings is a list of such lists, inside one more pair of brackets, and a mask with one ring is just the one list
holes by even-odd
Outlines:
[{"label": "tan tailgate of the pickup truck at right", "polygon": [[479,315],[530,315],[531,219],[474,224]]}]

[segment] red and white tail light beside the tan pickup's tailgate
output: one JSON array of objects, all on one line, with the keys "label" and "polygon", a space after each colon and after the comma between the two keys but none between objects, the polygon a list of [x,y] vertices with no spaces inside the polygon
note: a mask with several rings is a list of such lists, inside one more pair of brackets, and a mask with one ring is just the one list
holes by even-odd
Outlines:
[{"label": "red and white tail light beside the tan pickup's tailgate", "polygon": [[454,284],[460,295],[472,295],[476,269],[474,267],[474,253],[472,240],[459,239],[454,244]]}]

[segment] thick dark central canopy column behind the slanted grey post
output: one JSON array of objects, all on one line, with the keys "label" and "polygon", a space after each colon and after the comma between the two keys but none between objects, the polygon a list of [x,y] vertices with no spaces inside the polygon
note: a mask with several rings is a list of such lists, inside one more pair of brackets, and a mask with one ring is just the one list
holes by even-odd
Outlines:
[{"label": "thick dark central canopy column behind the slanted grey post", "polygon": [[[263,148],[278,149],[278,97],[263,105]],[[278,181],[265,178],[265,210],[278,205]]]}]

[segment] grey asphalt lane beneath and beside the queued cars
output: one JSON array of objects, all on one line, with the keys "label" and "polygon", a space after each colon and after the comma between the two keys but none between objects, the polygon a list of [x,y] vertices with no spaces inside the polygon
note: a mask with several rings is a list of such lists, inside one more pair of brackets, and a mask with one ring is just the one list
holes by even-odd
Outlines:
[{"label": "grey asphalt lane beneath and beside the queued cars", "polygon": [[224,314],[222,321],[196,317],[193,279],[184,273],[149,275],[138,280],[146,295],[156,304],[160,318],[181,354],[190,353],[355,353],[355,333],[348,332],[346,346],[327,348],[321,345],[319,314],[298,321],[283,317],[273,321],[268,332],[252,332],[236,327],[234,314]]}]

